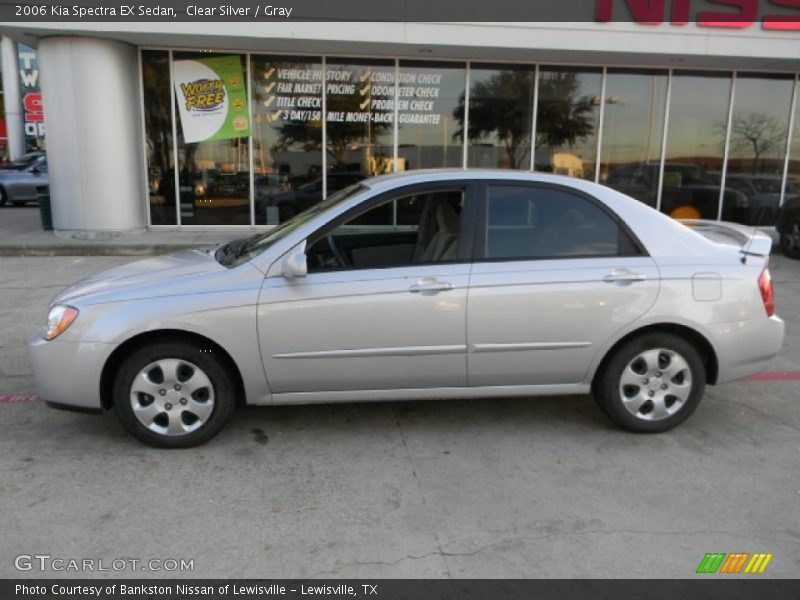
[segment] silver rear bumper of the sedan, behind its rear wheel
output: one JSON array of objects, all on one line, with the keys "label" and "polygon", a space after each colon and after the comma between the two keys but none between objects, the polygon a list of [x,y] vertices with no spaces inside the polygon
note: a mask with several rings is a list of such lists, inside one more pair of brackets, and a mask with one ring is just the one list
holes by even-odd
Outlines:
[{"label": "silver rear bumper of the sedan, behind its rear wheel", "polygon": [[710,329],[716,338],[719,363],[716,383],[727,383],[764,371],[783,347],[786,325],[773,316],[716,323]]}]

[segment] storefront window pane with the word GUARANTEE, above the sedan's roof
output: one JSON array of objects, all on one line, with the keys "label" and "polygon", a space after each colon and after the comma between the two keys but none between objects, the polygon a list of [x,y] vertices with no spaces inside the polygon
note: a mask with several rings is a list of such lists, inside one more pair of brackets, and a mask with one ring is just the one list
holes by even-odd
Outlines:
[{"label": "storefront window pane with the word GUARANTEE, above the sedan's roof", "polygon": [[400,61],[397,170],[460,167],[463,142],[457,136],[463,64]]}]

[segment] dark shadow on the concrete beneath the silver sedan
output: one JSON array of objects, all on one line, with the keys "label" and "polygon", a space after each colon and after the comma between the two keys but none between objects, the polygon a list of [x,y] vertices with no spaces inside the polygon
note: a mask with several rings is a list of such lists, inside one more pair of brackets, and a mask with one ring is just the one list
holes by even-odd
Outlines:
[{"label": "dark shadow on the concrete beneath the silver sedan", "polygon": [[[58,412],[58,437],[73,444],[140,445],[122,429],[114,411],[92,417]],[[48,420],[49,420],[48,419]],[[588,395],[513,399],[420,400],[404,402],[336,403],[291,406],[240,406],[209,445],[265,446],[276,435],[338,437],[376,434],[414,435],[435,430],[438,436],[498,433],[525,428],[531,435],[585,434],[613,428]]]}]

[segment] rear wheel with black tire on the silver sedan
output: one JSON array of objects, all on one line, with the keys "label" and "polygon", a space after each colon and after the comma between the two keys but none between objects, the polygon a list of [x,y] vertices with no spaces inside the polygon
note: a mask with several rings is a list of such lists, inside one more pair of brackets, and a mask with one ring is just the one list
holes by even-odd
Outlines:
[{"label": "rear wheel with black tire on the silver sedan", "polygon": [[697,408],[705,390],[699,352],[671,333],[647,333],[626,342],[601,369],[592,389],[595,400],[617,425],[635,433],[679,425]]}]

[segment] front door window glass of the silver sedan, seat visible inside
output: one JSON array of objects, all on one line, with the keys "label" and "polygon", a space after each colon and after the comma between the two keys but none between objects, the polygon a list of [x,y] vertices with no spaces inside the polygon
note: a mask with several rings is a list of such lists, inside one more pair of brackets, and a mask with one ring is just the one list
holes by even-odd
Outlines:
[{"label": "front door window glass of the silver sedan, seat visible inside", "polygon": [[454,261],[462,189],[420,191],[361,212],[311,242],[309,272]]}]

